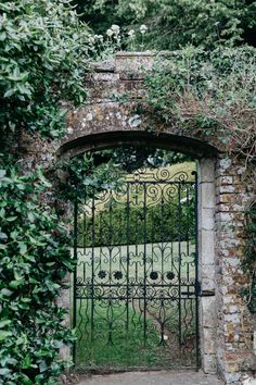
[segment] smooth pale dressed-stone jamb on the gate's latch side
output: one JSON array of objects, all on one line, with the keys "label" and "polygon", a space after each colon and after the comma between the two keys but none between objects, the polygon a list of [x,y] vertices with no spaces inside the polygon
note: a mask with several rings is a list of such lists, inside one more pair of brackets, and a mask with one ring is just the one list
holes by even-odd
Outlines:
[{"label": "smooth pale dressed-stone jamb on the gate's latch side", "polygon": [[[199,275],[202,284],[200,332],[202,369],[216,373],[215,280],[215,160],[200,161],[199,174]],[[204,297],[204,294],[208,296]]]}]

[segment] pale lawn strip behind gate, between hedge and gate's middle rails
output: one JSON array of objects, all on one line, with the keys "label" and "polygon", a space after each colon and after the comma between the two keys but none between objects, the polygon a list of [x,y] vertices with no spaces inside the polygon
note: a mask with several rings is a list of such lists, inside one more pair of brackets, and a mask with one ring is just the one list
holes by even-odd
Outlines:
[{"label": "pale lawn strip behind gate, between hedge and gate's middle rails", "polygon": [[[123,277],[113,283],[126,283],[127,272],[129,280],[139,280],[146,275],[146,280],[152,284],[166,281],[167,272],[172,272],[175,276],[171,282],[166,282],[178,284],[180,272],[180,280],[188,283],[194,278],[195,274],[194,251],[195,246],[190,241],[79,248],[77,250],[77,277],[84,282],[91,278],[93,261],[93,273],[101,284],[108,283],[110,274],[114,280],[117,271],[121,272]],[[181,261],[179,256],[181,256]],[[99,278],[101,271],[106,272],[103,278]],[[158,274],[158,280],[151,278],[152,272]]]}]

